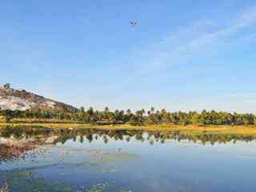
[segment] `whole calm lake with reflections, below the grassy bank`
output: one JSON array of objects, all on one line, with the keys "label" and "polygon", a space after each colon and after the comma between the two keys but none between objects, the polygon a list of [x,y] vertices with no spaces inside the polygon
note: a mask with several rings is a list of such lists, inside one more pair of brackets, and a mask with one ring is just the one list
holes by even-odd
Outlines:
[{"label": "whole calm lake with reflections, below the grassy bank", "polygon": [[256,191],[255,138],[6,127],[0,186],[7,182],[14,192]]}]

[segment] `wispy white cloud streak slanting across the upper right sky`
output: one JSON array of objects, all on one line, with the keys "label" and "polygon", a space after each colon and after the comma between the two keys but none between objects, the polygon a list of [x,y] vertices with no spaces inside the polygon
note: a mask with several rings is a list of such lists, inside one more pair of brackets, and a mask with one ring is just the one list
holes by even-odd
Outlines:
[{"label": "wispy white cloud streak slanting across the upper right sky", "polygon": [[[174,64],[186,63],[192,58],[206,57],[218,53],[220,47],[233,45],[239,38],[230,38],[247,27],[256,24],[256,7],[244,10],[236,18],[225,21],[203,20],[186,26],[155,43],[155,50],[150,66],[147,69],[156,70]],[[241,38],[241,37],[240,37]],[[254,38],[247,34],[242,38]]]}]

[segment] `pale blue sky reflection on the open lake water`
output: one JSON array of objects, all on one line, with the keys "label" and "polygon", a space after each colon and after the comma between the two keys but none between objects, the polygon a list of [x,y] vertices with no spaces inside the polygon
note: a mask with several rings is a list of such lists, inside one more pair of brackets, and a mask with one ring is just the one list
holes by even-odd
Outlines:
[{"label": "pale blue sky reflection on the open lake water", "polygon": [[[83,143],[78,139],[77,142],[67,141],[64,146],[46,147],[46,154],[35,158],[38,163],[18,161],[13,166],[53,165],[38,169],[38,175],[48,182],[72,186],[109,182],[118,189],[132,191],[254,191],[255,144],[229,142],[203,146],[168,140],[151,146],[149,141],[140,142],[134,138],[130,142],[110,139],[107,144],[101,138]],[[134,154],[136,158],[117,158],[112,162],[95,158],[95,162],[100,163],[90,166],[94,154],[89,151],[94,150],[99,154],[101,151]],[[103,173],[104,169],[118,171]]]}]

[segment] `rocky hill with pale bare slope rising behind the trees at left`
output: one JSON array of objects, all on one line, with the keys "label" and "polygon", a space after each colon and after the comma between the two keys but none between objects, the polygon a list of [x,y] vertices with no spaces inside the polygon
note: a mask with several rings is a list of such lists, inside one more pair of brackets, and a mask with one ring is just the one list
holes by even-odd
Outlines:
[{"label": "rocky hill with pale bare slope rising behind the trees at left", "polygon": [[76,110],[74,106],[32,94],[26,90],[15,90],[10,85],[0,86],[0,108],[3,110]]}]

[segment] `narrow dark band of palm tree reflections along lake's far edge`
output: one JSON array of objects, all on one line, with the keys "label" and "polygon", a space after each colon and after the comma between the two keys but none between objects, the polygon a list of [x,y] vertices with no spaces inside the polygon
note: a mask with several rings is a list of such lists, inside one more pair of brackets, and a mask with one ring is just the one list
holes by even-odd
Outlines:
[{"label": "narrow dark band of palm tree reflections along lake's far edge", "polygon": [[[96,130],[96,129],[46,129],[33,127],[6,127],[0,130],[0,138],[13,138],[19,141],[30,141],[37,144],[46,141],[52,144],[61,142],[65,144],[68,140],[79,141],[81,143],[102,139],[108,143],[110,139],[115,141],[130,142],[135,139],[140,142],[148,142],[150,145],[155,143],[165,143],[168,140],[178,142],[189,141],[198,142],[202,145],[210,143],[214,145],[225,144],[228,142],[243,141],[252,142],[256,140],[256,135],[243,134],[180,134],[179,131],[142,131],[142,130]],[[1,143],[1,140],[0,140]]]}]

